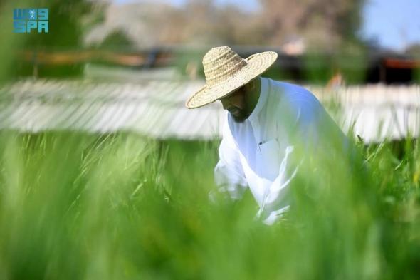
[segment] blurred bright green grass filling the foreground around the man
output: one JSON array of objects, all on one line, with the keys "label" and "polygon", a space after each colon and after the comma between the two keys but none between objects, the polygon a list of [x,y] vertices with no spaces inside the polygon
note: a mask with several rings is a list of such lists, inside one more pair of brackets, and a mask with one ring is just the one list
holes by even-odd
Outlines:
[{"label": "blurred bright green grass filling the foreground around the man", "polygon": [[418,279],[416,141],[301,172],[272,227],[209,201],[217,147],[1,132],[0,279]]}]

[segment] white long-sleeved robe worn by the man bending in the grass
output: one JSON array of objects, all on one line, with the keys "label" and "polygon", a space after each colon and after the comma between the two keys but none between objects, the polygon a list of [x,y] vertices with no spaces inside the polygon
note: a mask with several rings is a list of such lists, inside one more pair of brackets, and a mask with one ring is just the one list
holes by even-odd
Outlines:
[{"label": "white long-sleeved robe worn by the man bending in the grass", "polygon": [[261,78],[256,108],[243,123],[236,123],[226,112],[214,170],[219,190],[239,199],[249,187],[259,206],[258,217],[273,224],[290,204],[288,187],[298,164],[287,165],[295,140],[316,145],[317,131],[327,119],[333,123],[305,88]]}]

